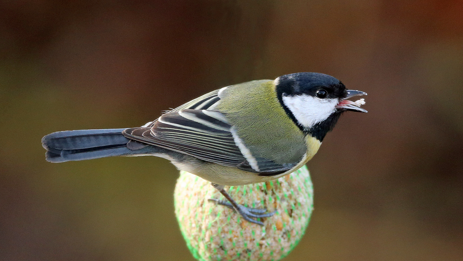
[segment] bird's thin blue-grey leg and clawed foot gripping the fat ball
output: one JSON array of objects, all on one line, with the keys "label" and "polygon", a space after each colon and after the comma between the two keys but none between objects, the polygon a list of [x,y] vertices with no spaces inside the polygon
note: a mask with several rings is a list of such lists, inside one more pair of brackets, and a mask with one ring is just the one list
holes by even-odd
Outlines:
[{"label": "bird's thin blue-grey leg and clawed foot gripping the fat ball", "polygon": [[214,201],[219,205],[224,205],[224,206],[227,206],[227,207],[237,211],[241,215],[241,217],[243,217],[245,220],[247,220],[247,221],[249,221],[251,223],[255,223],[255,224],[259,224],[259,225],[263,226],[263,223],[261,221],[258,221],[258,220],[252,219],[252,218],[267,218],[267,217],[272,216],[276,212],[276,211],[272,211],[270,213],[265,213],[267,211],[266,209],[251,208],[251,207],[245,207],[244,205],[239,205],[225,191],[223,185],[219,185],[219,184],[215,184],[215,183],[211,183],[211,185],[213,187],[215,187],[220,193],[222,193],[222,195],[224,195],[225,199],[227,199],[228,202],[225,201],[225,200],[219,200],[219,199],[209,199],[209,200]]}]

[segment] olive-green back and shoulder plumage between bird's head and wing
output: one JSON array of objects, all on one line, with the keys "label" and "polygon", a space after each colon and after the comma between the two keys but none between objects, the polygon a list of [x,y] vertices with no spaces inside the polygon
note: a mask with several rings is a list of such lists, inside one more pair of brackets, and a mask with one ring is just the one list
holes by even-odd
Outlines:
[{"label": "olive-green back and shoulder plumage between bird's head and wing", "polygon": [[[255,157],[297,163],[307,151],[302,131],[288,117],[272,80],[227,87],[215,108],[222,112]],[[257,128],[257,131],[256,131]]]}]

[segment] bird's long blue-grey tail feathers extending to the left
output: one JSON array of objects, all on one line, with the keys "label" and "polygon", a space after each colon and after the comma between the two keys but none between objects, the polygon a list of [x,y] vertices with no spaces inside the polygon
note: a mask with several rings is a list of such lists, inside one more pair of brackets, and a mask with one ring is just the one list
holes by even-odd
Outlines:
[{"label": "bird's long blue-grey tail feathers extending to the left", "polygon": [[67,162],[130,155],[130,139],[122,135],[124,129],[58,131],[42,138],[49,162]]}]

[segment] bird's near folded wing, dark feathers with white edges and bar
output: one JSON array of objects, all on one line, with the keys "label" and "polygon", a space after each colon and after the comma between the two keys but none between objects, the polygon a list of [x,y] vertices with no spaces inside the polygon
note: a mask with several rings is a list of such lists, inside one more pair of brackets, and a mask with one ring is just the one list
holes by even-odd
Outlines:
[{"label": "bird's near folded wing, dark feathers with white edges and bar", "polygon": [[[151,127],[126,129],[122,133],[138,142],[263,175],[275,171],[281,173],[292,168],[264,158],[244,156],[235,143],[232,126],[222,113],[215,110],[185,109],[168,112],[159,117]],[[250,157],[253,164],[249,164]]]}]

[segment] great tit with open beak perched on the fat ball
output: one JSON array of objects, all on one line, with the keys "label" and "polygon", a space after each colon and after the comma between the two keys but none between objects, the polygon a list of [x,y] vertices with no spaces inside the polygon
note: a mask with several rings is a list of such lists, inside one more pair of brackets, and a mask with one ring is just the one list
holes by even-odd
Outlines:
[{"label": "great tit with open beak perched on the fat ball", "polygon": [[320,73],[282,75],[223,87],[141,127],[58,131],[42,138],[49,162],[153,155],[212,182],[249,222],[273,215],[237,204],[224,186],[274,180],[302,167],[318,151],[342,112],[367,112],[367,93],[347,90]]}]

